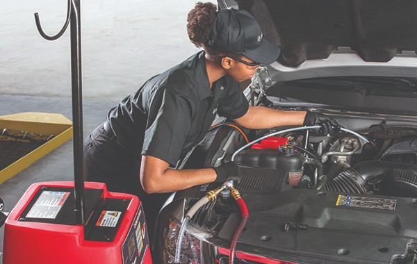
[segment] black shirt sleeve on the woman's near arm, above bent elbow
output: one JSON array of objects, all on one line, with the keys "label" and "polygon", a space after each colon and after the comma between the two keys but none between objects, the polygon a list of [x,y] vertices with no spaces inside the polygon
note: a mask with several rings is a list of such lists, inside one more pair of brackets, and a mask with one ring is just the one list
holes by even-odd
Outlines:
[{"label": "black shirt sleeve on the woman's near arm, above bent elbow", "polygon": [[190,131],[190,99],[172,87],[156,90],[149,113],[142,154],[177,164]]}]

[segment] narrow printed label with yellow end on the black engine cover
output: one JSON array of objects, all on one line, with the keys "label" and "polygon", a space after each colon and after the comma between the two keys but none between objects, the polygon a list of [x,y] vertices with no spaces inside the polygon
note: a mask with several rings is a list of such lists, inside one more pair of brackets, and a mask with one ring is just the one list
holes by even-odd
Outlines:
[{"label": "narrow printed label with yellow end on the black engine cover", "polygon": [[375,209],[395,210],[397,200],[384,199],[376,197],[360,197],[360,196],[345,196],[339,195],[336,201],[336,206],[346,207],[362,207]]}]

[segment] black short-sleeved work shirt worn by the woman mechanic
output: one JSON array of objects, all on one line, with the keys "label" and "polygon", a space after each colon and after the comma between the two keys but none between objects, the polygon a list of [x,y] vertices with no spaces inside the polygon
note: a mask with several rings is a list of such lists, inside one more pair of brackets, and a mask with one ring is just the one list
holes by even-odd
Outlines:
[{"label": "black short-sleeved work shirt worn by the woman mechanic", "polygon": [[216,113],[236,119],[248,108],[230,76],[210,89],[204,51],[199,51],[122,100],[108,113],[108,122],[133,155],[154,156],[174,166],[204,138]]}]

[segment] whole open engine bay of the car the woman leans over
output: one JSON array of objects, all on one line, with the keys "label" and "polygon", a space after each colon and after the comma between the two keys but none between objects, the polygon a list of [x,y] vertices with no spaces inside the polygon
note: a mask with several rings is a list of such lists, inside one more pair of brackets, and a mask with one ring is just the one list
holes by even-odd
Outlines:
[{"label": "whole open engine bay of the car the woman leans over", "polygon": [[[269,261],[254,263],[417,263],[417,82],[335,77],[271,84],[259,69],[245,90],[252,106],[322,113],[341,129],[319,135],[314,127],[251,130],[215,120],[179,168],[236,163],[234,188],[249,218],[233,190],[222,190],[190,217],[183,263],[214,263],[211,256],[227,263],[220,249],[236,245],[236,233],[238,251]],[[165,259],[184,215],[216,188],[176,192],[162,214]]]}]

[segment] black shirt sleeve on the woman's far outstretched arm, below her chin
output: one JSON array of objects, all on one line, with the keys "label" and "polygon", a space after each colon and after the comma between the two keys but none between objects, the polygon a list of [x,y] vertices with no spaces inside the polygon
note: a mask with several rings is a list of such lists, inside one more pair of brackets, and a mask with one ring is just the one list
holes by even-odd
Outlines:
[{"label": "black shirt sleeve on the woman's far outstretched arm, below her chin", "polygon": [[229,119],[243,117],[249,109],[249,102],[245,94],[240,90],[236,81],[227,81],[224,85],[225,92],[219,100],[218,113]]}]

